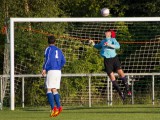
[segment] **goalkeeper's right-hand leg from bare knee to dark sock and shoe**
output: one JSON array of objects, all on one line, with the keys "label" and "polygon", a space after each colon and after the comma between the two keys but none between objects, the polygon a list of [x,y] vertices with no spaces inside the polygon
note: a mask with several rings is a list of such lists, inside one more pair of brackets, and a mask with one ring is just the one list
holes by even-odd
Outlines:
[{"label": "goalkeeper's right-hand leg from bare knee to dark sock and shoe", "polygon": [[130,91],[130,89],[129,89],[128,80],[127,80],[126,76],[124,75],[123,70],[122,70],[122,69],[118,69],[118,70],[117,70],[117,73],[118,73],[118,75],[120,76],[120,79],[122,80],[122,83],[123,83],[124,86],[125,86],[125,90],[126,90],[126,92],[127,92],[127,95],[128,95],[128,96],[131,96],[131,91]]}]

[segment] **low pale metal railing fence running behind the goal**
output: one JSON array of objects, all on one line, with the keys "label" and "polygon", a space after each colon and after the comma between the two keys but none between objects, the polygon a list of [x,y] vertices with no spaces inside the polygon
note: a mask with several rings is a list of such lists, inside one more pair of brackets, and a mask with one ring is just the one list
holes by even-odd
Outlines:
[{"label": "low pale metal railing fence running behind the goal", "polygon": [[[117,76],[117,74],[115,75]],[[127,98],[128,104],[159,104],[160,73],[126,73],[126,76],[132,91],[131,98]],[[9,80],[9,76],[0,75],[1,109],[7,96],[7,94],[4,94],[4,78]],[[21,79],[19,79],[21,87],[18,88],[21,92],[21,97],[20,93],[18,93],[15,98],[21,98],[21,106],[24,108],[25,101],[28,101],[26,100],[28,98],[25,98],[25,89],[29,87],[29,85],[25,84],[29,80],[28,78],[34,78],[34,80],[35,78],[43,78],[41,75],[15,75],[15,78]],[[110,82],[106,74],[62,74],[62,81],[64,84],[61,85],[60,90],[61,102],[65,106],[87,105],[92,107],[101,104],[110,106],[121,103],[118,94],[112,88],[112,82]],[[121,89],[124,89],[120,80],[118,80],[118,83]],[[7,89],[5,92],[7,93]]]}]

